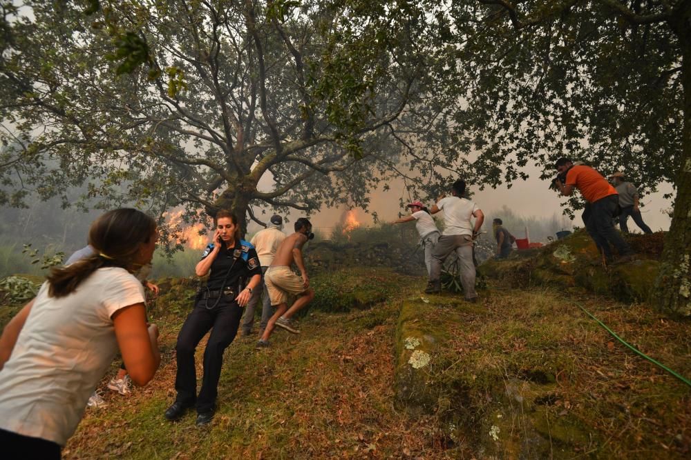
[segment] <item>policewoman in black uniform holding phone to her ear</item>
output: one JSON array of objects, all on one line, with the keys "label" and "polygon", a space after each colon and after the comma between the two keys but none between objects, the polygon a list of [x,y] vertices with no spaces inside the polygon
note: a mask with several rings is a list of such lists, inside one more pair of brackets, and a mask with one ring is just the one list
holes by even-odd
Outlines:
[{"label": "policewoman in black uniform holding phone to her ear", "polygon": [[[196,274],[202,277],[209,270],[207,286],[198,292],[194,309],[178,334],[175,381],[178,396],[165,413],[171,421],[180,419],[193,406],[197,409],[197,425],[205,425],[214,417],[223,352],[238,332],[242,307],[261,281],[261,266],[254,246],[240,239],[238,218],[225,210],[216,214],[214,243],[202,254]],[[202,388],[197,396],[194,351],[209,329]]]}]

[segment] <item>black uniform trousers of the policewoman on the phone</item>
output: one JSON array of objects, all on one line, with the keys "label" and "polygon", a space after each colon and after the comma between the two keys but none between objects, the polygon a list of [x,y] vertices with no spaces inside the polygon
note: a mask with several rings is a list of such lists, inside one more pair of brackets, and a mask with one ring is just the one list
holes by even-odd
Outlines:
[{"label": "black uniform trousers of the policewoman on the phone", "polygon": [[[223,352],[235,339],[243,310],[235,296],[223,296],[214,308],[207,308],[216,299],[198,300],[180,329],[176,345],[178,373],[175,389],[176,401],[185,406],[196,403],[200,414],[214,410],[218,394],[218,379],[223,365]],[[204,374],[199,397],[196,397],[197,379],[194,367],[194,350],[199,341],[211,329],[207,348],[204,350]]]}]

